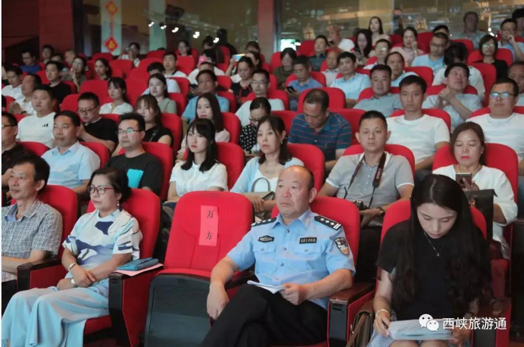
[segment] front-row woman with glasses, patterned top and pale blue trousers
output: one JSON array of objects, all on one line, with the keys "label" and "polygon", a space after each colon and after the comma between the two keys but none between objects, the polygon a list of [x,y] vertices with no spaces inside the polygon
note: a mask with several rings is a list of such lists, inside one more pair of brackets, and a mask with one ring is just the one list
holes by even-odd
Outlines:
[{"label": "front-row woman with glasses, patterned top and pale blue trousers", "polygon": [[88,185],[95,211],[63,242],[68,274],[56,286],[18,292],[2,317],[2,346],[81,346],[85,321],[107,316],[108,276],[138,259],[138,222],[120,207],[130,194],[120,169],[96,170]]}]

